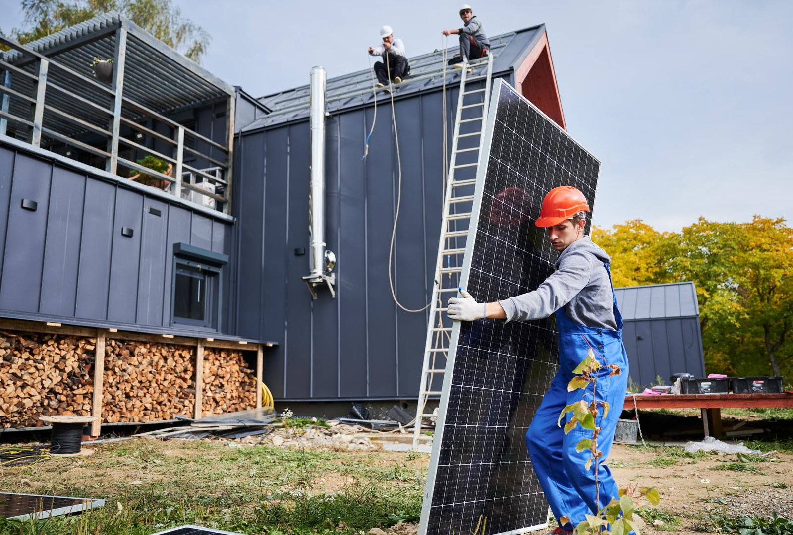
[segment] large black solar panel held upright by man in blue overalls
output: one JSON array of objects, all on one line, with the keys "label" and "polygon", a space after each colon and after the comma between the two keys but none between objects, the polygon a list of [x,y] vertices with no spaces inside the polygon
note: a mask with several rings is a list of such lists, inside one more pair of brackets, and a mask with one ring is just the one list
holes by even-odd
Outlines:
[{"label": "large black solar panel held upright by man in blue overalls", "polygon": [[[556,252],[534,226],[569,185],[595,201],[600,162],[503,80],[493,84],[462,286],[477,302],[534,290]],[[556,321],[455,322],[419,533],[522,533],[548,524],[524,435],[557,371]]]}]

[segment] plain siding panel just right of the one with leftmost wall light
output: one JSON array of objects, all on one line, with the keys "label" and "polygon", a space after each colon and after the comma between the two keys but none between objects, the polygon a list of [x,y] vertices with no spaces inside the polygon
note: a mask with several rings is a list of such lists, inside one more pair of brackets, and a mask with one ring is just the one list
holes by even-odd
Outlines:
[{"label": "plain siding panel just right of the one with leftmost wall light", "polygon": [[41,314],[75,314],[85,190],[85,175],[59,167],[52,170],[44,271],[41,276]]}]

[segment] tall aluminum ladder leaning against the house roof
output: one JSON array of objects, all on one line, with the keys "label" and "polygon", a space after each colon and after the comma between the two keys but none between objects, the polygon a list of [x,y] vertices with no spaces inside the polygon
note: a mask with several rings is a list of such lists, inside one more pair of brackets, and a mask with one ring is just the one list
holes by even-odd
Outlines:
[{"label": "tall aluminum ladder leaning against the house roof", "polygon": [[[442,378],[446,371],[446,356],[451,337],[451,320],[446,318],[446,302],[457,295],[460,284],[462,257],[473,206],[473,188],[477,183],[477,168],[485,140],[485,121],[495,59],[496,56],[488,54],[481,60],[470,62],[470,68],[462,69],[449,172],[446,175],[443,198],[438,261],[435,264],[427,341],[421,368],[419,402],[413,426],[413,449],[416,451],[419,445],[431,444],[432,441],[431,435],[422,433],[421,421],[434,416],[425,412],[427,401],[441,394]],[[482,71],[484,74],[481,74]],[[480,80],[485,81],[484,88],[466,90],[466,84]],[[481,83],[477,85],[481,86]]]}]

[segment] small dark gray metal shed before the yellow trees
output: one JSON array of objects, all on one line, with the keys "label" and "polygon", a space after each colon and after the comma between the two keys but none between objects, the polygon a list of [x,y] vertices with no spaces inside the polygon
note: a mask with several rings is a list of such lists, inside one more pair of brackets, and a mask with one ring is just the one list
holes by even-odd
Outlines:
[{"label": "small dark gray metal shed before the yellow trees", "polygon": [[630,378],[649,387],[656,376],[666,384],[673,373],[705,376],[699,305],[694,283],[615,288],[623,314],[623,343]]}]

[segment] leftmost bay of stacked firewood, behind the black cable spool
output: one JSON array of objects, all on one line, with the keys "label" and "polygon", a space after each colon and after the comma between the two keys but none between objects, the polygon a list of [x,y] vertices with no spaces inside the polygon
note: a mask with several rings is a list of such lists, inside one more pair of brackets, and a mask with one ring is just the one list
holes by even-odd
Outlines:
[{"label": "leftmost bay of stacked firewood, behind the black cable spool", "polygon": [[48,414],[90,416],[95,343],[0,333],[0,428],[36,427]]}]

